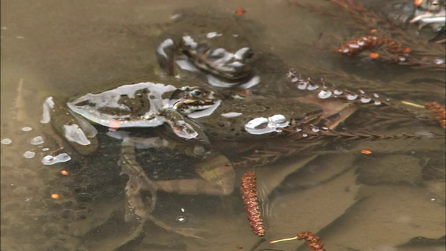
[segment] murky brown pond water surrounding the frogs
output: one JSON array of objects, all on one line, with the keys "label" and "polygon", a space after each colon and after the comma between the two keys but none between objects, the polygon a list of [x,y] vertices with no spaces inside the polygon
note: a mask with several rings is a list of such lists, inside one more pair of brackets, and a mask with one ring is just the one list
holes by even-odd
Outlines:
[{"label": "murky brown pond water surrounding the frogs", "polygon": [[[356,88],[389,90],[392,98],[413,102],[445,102],[444,73],[348,63],[328,47],[338,45],[329,33],[351,36],[345,25],[287,1],[42,0],[2,1],[1,7],[2,251],[114,250],[129,240],[121,250],[249,250],[259,241],[249,229],[238,185],[227,197],[160,192],[154,217],[201,238],[150,220],[142,231],[125,222],[126,180],[116,164],[121,142],[104,130],[93,158],[64,149],[61,153],[71,155],[68,162],[41,162],[58,147],[39,122],[44,98],[68,98],[146,76],[156,61],[156,38],[176,10],[213,15],[245,8],[245,17],[256,24],[252,33],[260,38],[256,47],[284,66],[325,80],[330,75],[322,69],[342,69],[371,80]],[[288,68],[268,66],[279,74]],[[385,129],[382,133],[392,134],[438,126],[414,120]],[[362,149],[373,153],[361,154]],[[444,155],[441,138],[337,139],[256,169],[259,190],[269,194],[263,195],[266,238],[306,230],[320,235],[326,250],[444,250],[433,241],[445,236]],[[144,151],[139,160],[149,161]],[[193,163],[185,162],[178,157],[169,166],[157,165],[157,175],[187,177],[185,169]],[[141,232],[145,235],[138,237]],[[306,250],[298,241],[262,243],[257,250],[262,248]]]}]

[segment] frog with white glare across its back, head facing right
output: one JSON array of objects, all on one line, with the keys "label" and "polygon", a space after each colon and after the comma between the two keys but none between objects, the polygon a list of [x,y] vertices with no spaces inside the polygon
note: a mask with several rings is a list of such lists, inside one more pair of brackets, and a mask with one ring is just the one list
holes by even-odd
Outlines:
[{"label": "frog with white glare across its back, head facing right", "polygon": [[[208,139],[201,127],[185,115],[206,116],[206,110],[212,111],[221,100],[213,91],[178,83],[172,82],[176,86],[155,82],[123,84],[114,89],[75,96],[68,102],[49,96],[43,103],[40,122],[51,125],[56,132],[54,135],[62,138],[61,147],[67,142],[80,155],[91,155],[98,149],[98,130],[92,123],[115,129],[164,125],[175,137],[195,142],[197,147],[191,154],[203,155],[208,151]],[[130,177],[127,185],[130,189],[136,182],[133,178],[136,174],[126,174]],[[144,174],[138,174],[138,178],[145,180],[144,190],[153,196],[150,206],[153,208],[156,188]]]}]

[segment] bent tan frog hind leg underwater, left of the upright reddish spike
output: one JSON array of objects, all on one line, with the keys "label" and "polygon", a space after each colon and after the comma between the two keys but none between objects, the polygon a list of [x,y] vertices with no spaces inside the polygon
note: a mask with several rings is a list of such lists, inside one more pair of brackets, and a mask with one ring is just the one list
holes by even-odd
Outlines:
[{"label": "bent tan frog hind leg underwater, left of the upright reddish spike", "polygon": [[224,155],[206,158],[196,167],[201,178],[173,181],[155,181],[157,190],[182,195],[230,195],[236,173]]}]

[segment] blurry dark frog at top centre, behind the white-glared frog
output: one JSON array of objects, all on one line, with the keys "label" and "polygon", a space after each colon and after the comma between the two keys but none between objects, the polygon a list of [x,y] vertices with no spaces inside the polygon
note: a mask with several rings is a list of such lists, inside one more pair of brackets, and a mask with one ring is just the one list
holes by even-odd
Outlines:
[{"label": "blurry dark frog at top centre, behind the white-glared frog", "polygon": [[277,67],[279,59],[270,46],[261,44],[258,24],[236,15],[192,10],[177,11],[174,17],[157,38],[160,74],[199,79],[222,93],[238,90],[229,95],[268,84],[270,77],[278,76],[271,66]]}]

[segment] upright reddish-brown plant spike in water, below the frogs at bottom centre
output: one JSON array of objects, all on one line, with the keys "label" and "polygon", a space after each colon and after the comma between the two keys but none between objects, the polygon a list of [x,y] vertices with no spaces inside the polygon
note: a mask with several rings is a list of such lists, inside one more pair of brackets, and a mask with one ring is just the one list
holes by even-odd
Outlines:
[{"label": "upright reddish-brown plant spike in water, below the frogs at bottom centre", "polygon": [[265,227],[261,218],[259,199],[257,198],[255,172],[245,172],[242,177],[240,191],[242,192],[243,204],[245,204],[245,210],[252,231],[258,236],[264,236]]}]

